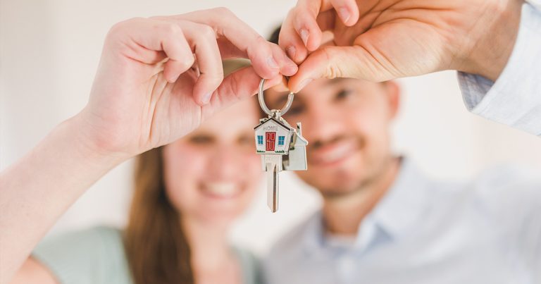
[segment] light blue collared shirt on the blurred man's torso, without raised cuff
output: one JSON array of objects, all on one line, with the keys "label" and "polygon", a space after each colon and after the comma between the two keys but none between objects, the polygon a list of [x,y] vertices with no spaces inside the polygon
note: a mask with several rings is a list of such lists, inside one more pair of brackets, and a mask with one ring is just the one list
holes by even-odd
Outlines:
[{"label": "light blue collared shirt on the blurred man's torso, without raised cuff", "polygon": [[541,283],[541,177],[501,167],[468,183],[427,178],[404,160],[354,240],[321,213],[278,242],[269,284]]}]

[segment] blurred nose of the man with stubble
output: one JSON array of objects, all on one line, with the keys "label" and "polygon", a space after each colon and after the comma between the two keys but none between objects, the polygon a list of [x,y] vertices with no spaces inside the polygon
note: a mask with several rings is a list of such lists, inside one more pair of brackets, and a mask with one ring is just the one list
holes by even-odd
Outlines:
[{"label": "blurred nose of the man with stubble", "polygon": [[332,107],[313,107],[307,110],[306,121],[302,123],[303,136],[312,145],[332,140],[346,131],[343,113]]}]

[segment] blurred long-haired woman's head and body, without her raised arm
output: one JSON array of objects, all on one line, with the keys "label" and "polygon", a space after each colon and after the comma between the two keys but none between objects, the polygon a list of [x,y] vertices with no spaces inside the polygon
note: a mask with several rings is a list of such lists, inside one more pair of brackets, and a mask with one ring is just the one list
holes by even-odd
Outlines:
[{"label": "blurred long-haired woman's head and body, without her raised arm", "polygon": [[254,257],[227,238],[261,178],[257,107],[254,99],[241,101],[139,155],[127,228],[46,240],[13,283],[259,283]]}]

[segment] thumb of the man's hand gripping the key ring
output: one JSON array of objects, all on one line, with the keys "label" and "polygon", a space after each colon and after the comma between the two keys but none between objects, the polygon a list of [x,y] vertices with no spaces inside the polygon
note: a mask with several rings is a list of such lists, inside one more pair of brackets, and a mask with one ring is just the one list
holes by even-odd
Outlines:
[{"label": "thumb of the man's hand gripping the key ring", "polygon": [[375,82],[394,78],[383,66],[390,61],[378,57],[359,45],[321,47],[299,65],[299,71],[290,78],[288,87],[292,92],[299,92],[319,78],[356,78]]}]

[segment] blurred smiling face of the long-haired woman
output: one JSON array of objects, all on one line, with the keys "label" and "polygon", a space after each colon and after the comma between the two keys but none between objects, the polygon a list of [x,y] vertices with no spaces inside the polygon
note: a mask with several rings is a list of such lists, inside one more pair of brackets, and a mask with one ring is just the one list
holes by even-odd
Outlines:
[{"label": "blurred smiling face of the long-haired woman", "polygon": [[166,192],[185,218],[227,224],[247,208],[261,177],[256,102],[217,113],[163,149]]}]

